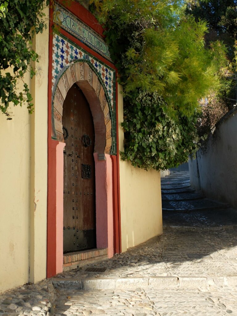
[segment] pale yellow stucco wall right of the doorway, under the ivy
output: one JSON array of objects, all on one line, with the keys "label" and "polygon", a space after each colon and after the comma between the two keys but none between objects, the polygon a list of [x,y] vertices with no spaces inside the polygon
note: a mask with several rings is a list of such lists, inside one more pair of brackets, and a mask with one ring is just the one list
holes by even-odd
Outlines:
[{"label": "pale yellow stucco wall right of the doorway, under the ivy", "polygon": [[[119,86],[119,92],[122,88]],[[123,151],[123,97],[119,93],[119,150]],[[161,177],[119,161],[122,251],[162,234]]]}]

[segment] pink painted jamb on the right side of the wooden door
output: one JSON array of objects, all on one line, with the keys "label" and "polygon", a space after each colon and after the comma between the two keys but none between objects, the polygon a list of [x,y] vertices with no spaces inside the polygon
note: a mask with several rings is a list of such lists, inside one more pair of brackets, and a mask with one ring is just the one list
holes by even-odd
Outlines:
[{"label": "pink painted jamb on the right side of the wooden door", "polygon": [[105,155],[106,160],[95,161],[95,207],[96,207],[96,246],[108,247],[108,257],[113,257],[113,197],[112,197],[112,160]]}]

